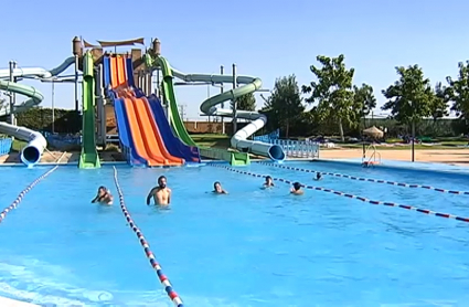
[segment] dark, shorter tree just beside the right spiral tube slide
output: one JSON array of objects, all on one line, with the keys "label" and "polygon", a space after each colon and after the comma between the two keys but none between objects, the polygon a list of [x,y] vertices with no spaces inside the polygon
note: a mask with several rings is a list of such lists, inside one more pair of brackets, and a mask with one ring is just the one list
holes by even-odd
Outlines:
[{"label": "dark, shorter tree just beside the right spiral tube slide", "polygon": [[267,114],[269,121],[277,123],[276,128],[285,129],[285,136],[288,138],[291,123],[305,112],[295,75],[275,81],[271,95],[265,99],[262,110]]}]

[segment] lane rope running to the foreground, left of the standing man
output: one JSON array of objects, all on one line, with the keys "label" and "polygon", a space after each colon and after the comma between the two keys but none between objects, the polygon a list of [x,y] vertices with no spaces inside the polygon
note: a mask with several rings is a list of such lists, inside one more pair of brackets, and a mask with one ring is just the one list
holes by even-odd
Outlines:
[{"label": "lane rope running to the foreground, left of the standing man", "polygon": [[174,303],[174,306],[183,307],[184,305],[182,303],[182,299],[172,288],[171,283],[169,282],[168,277],[163,274],[163,271],[161,269],[160,264],[157,262],[154,254],[151,252],[150,245],[145,239],[142,232],[140,231],[140,229],[137,226],[137,224],[134,222],[132,218],[130,216],[130,213],[127,210],[126,203],[124,201],[124,193],[122,193],[122,190],[120,189],[119,180],[117,178],[117,169],[116,167],[113,167],[113,168],[114,168],[114,182],[116,184],[117,193],[119,195],[120,209],[124,213],[124,216],[126,218],[128,222],[128,225],[137,234],[137,237],[140,241],[141,246],[143,247],[145,254],[147,255],[147,258],[149,260],[151,267],[157,272],[158,278],[160,279],[161,285],[164,287],[164,290],[168,294],[169,298],[172,300],[172,303]]}]

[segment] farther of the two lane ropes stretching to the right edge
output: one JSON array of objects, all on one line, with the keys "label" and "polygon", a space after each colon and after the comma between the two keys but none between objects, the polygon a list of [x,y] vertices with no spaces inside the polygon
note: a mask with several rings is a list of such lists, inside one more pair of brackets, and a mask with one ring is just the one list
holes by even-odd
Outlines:
[{"label": "farther of the two lane ropes stretching to the right edge", "polygon": [[391,186],[397,186],[397,187],[403,187],[403,188],[420,188],[420,189],[433,190],[433,191],[441,192],[441,193],[469,195],[469,191],[446,190],[446,189],[440,189],[440,188],[435,188],[435,187],[424,186],[424,184],[411,184],[411,183],[388,181],[388,180],[383,180],[383,179],[363,178],[363,177],[350,176],[350,174],[345,174],[345,173],[322,172],[322,171],[316,171],[316,170],[312,170],[312,169],[294,168],[294,167],[287,167],[287,166],[268,163],[268,162],[256,162],[256,163],[259,163],[259,165],[263,165],[263,166],[276,167],[276,168],[280,168],[280,169],[297,170],[297,171],[302,171],[302,172],[311,172],[311,173],[318,173],[319,172],[321,174],[347,178],[347,179],[352,179],[352,180],[358,180],[358,181],[391,184]]}]

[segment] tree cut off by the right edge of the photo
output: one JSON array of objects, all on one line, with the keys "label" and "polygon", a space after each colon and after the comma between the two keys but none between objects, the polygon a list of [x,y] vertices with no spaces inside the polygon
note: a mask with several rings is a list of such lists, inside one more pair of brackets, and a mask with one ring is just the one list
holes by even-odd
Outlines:
[{"label": "tree cut off by the right edge of the photo", "polygon": [[452,102],[451,110],[460,119],[469,119],[469,61],[458,63],[459,74],[457,80],[446,77],[449,87],[446,88],[448,100]]}]

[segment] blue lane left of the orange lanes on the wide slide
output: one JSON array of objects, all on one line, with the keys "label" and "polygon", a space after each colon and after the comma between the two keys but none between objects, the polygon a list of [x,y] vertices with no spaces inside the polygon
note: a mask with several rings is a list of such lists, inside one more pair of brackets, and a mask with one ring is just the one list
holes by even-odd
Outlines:
[{"label": "blue lane left of the orange lanes on the wide slide", "polygon": [[127,161],[131,166],[146,166],[147,161],[135,150],[134,140],[130,134],[129,121],[127,120],[126,108],[122,98],[114,99],[114,113],[116,115],[117,129],[119,131],[119,140],[124,148]]}]

